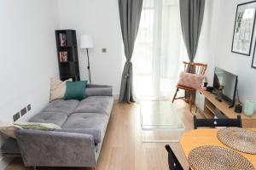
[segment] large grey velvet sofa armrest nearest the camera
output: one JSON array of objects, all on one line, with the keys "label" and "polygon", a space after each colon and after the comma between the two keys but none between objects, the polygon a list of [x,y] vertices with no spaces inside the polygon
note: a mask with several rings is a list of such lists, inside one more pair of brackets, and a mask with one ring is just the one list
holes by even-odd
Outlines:
[{"label": "large grey velvet sofa armrest nearest the camera", "polygon": [[26,167],[96,167],[89,134],[19,129],[16,136]]}]

